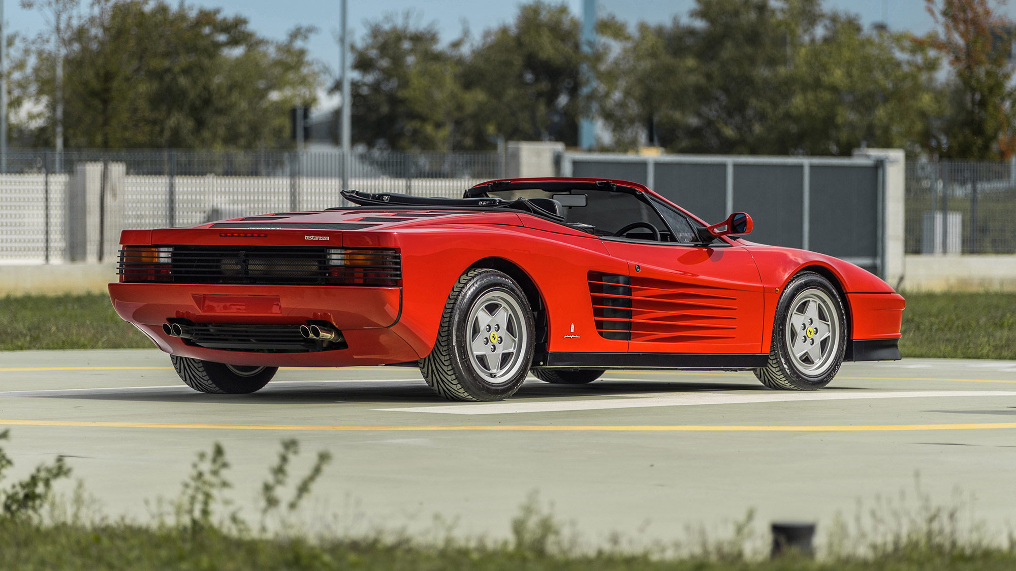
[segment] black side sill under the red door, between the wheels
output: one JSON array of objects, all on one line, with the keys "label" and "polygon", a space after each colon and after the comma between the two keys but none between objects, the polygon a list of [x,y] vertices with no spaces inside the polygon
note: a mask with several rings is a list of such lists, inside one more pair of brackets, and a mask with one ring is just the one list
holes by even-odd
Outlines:
[{"label": "black side sill under the red door, between the wheels", "polygon": [[576,369],[757,369],[769,360],[768,354],[697,353],[548,353],[546,357],[542,367]]}]

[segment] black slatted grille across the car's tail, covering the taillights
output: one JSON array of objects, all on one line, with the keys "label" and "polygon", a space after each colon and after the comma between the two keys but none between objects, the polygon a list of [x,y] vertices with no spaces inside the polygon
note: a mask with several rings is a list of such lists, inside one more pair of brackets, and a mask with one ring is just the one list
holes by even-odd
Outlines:
[{"label": "black slatted grille across the car's tail, covering the taillights", "polygon": [[392,248],[125,246],[118,273],[132,282],[398,287],[402,260]]}]

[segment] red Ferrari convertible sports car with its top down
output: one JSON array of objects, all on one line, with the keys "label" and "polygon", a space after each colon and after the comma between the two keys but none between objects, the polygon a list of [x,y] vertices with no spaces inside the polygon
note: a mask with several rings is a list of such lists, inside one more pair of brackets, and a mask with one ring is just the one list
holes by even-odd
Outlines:
[{"label": "red Ferrari convertible sports car with its top down", "polygon": [[213,393],[352,365],[419,366],[454,400],[610,369],[814,390],[843,361],[900,358],[902,297],[842,260],[745,240],[744,212],[708,225],[596,179],[342,195],[359,206],[125,231],[113,305]]}]

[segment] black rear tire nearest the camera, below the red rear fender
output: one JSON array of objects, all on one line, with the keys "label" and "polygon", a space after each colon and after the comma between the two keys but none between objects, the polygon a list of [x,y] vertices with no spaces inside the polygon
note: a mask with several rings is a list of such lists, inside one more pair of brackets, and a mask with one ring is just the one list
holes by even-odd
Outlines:
[{"label": "black rear tire nearest the camera, below the red rear fender", "polygon": [[[497,297],[500,302],[489,303],[508,304],[506,309],[518,314],[512,321],[510,334],[515,335],[514,343],[509,343],[513,348],[508,352],[511,355],[503,371],[504,377],[497,377],[501,374],[498,371],[484,369],[484,364],[480,363],[471,347],[472,343],[481,340],[486,345],[487,339],[479,336],[470,338],[468,332],[470,327],[477,327],[472,323],[475,319],[470,319],[470,314],[480,311],[478,308],[486,307],[486,304],[477,304],[491,297]],[[509,333],[507,324],[503,331]],[[430,355],[420,361],[420,371],[427,384],[449,400],[485,401],[507,398],[525,381],[532,363],[534,331],[532,310],[525,294],[514,279],[494,269],[471,269],[462,274],[452,288],[441,315],[437,342]],[[524,338],[520,340],[519,335],[524,335]],[[488,346],[494,346],[495,350],[506,347],[503,344],[504,335],[498,338],[502,339],[502,344],[495,345],[496,341],[492,340]],[[491,369],[497,369],[504,362],[504,355],[506,354],[497,354],[497,365],[493,367],[486,356],[484,361]]]}]

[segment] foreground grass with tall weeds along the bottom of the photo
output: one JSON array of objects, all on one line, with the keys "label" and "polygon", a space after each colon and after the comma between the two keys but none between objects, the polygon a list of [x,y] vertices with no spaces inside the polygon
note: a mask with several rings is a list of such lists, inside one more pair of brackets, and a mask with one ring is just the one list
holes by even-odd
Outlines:
[{"label": "foreground grass with tall weeds along the bottom of the photo", "polygon": [[[0,441],[8,434],[0,433]],[[1009,570],[1016,567],[1016,542],[986,541],[979,523],[966,521],[962,503],[941,506],[922,492],[877,499],[859,513],[852,526],[837,518],[827,532],[819,559],[800,553],[770,559],[755,543],[752,511],[734,523],[729,537],[709,541],[692,533],[673,546],[621,549],[614,544],[579,548],[533,493],[510,522],[506,540],[459,538],[447,530],[432,538],[377,531],[354,537],[293,524],[295,510],[308,497],[331,460],[322,450],[307,474],[291,479],[296,440],[283,440],[261,487],[260,525],[243,517],[228,495],[230,463],[215,443],[199,452],[172,511],[156,511],[147,524],[110,520],[97,513],[96,501],[78,483],[70,499],[53,493],[53,483],[70,475],[58,458],[31,475],[0,488],[0,569],[35,570],[269,570],[325,569],[462,571],[914,571]],[[13,459],[0,448],[0,480]],[[290,502],[281,501],[292,497]],[[26,502],[25,499],[30,499]],[[916,502],[914,504],[914,501]],[[165,505],[160,502],[158,505]],[[43,506],[49,510],[44,514]],[[267,519],[282,523],[269,531]],[[623,537],[616,537],[623,545]],[[762,537],[768,541],[768,537]],[[762,548],[760,551],[759,548]]]}]

